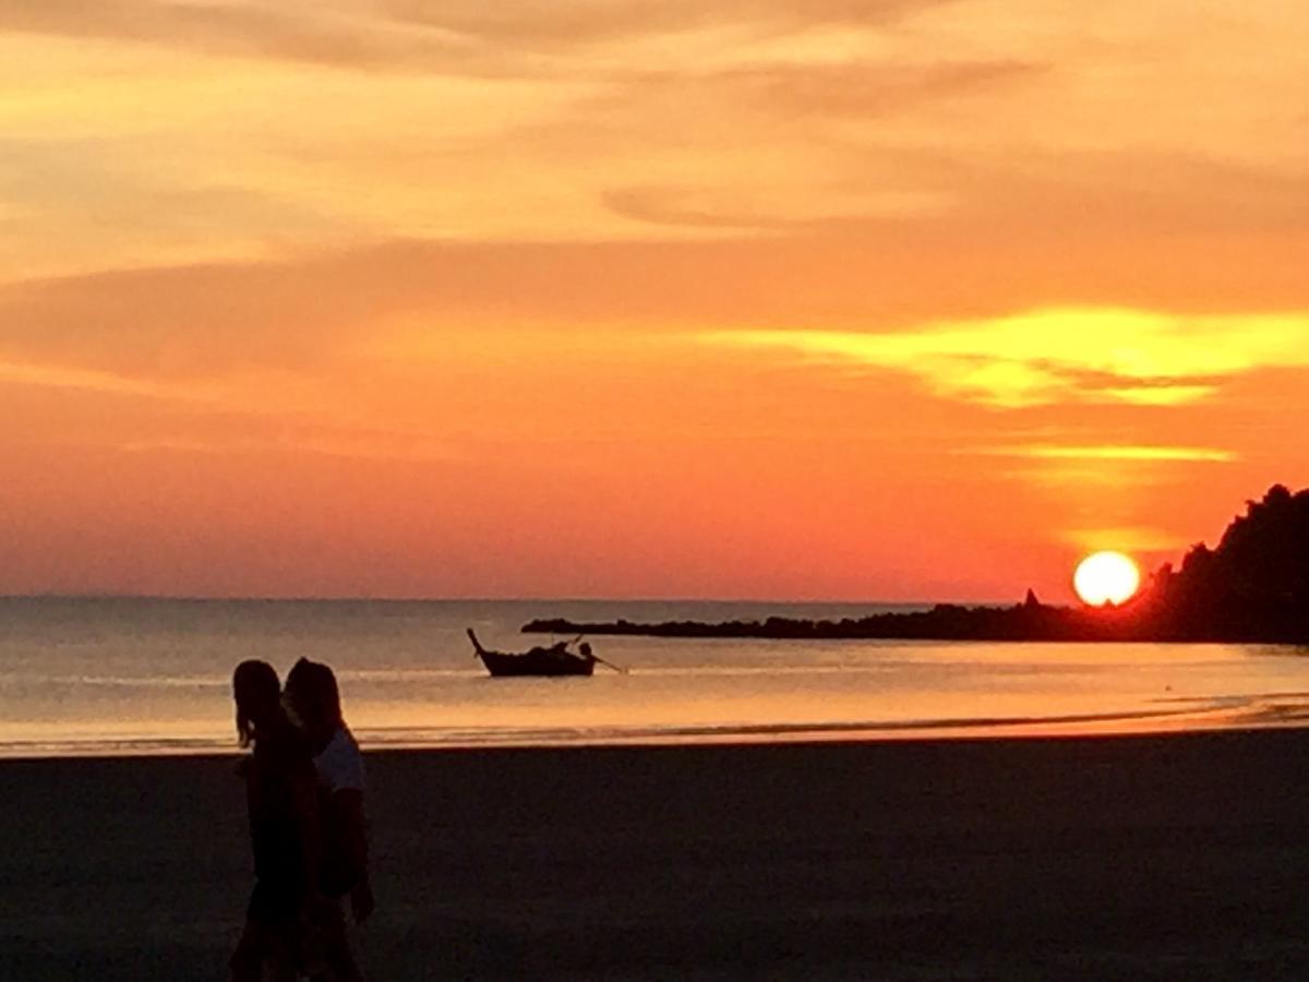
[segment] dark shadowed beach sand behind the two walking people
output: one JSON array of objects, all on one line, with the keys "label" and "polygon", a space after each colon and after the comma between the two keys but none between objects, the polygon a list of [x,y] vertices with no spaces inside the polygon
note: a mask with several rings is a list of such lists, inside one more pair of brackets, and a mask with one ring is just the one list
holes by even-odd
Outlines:
[{"label": "dark shadowed beach sand behind the two walking people", "polygon": [[[1309,978],[1309,732],[368,757],[372,977]],[[221,979],[230,758],[0,763],[0,978]]]}]

